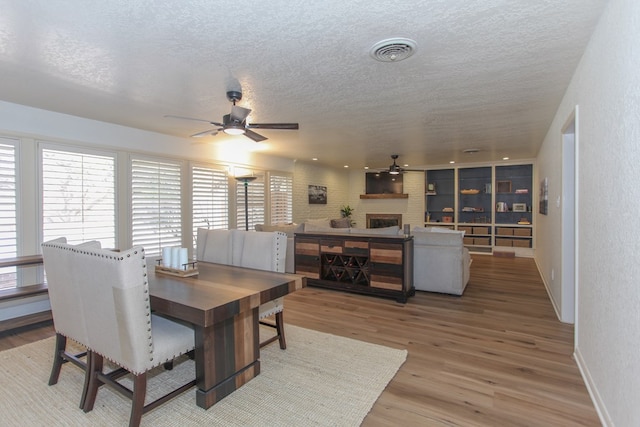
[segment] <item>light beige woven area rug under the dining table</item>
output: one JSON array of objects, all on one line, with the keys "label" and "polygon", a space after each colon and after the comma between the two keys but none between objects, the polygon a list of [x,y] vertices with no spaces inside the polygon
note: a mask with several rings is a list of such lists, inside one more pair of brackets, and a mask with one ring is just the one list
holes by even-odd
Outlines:
[{"label": "light beige woven area rug under the dining table", "polygon": [[[260,351],[261,373],[208,410],[191,389],[142,417],[142,426],[358,426],[407,357],[396,350],[292,325],[287,349]],[[124,426],[130,401],[102,387],[94,410],[78,408],[83,372],[66,364],[47,381],[54,338],[0,352],[0,424],[3,426]],[[148,397],[194,376],[184,358],[158,369]]]}]

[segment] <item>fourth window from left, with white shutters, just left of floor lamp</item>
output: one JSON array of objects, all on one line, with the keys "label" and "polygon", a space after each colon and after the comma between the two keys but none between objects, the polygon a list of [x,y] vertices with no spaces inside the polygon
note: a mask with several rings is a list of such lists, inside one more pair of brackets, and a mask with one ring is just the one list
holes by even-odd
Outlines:
[{"label": "fourth window from left, with white shutters, just left of floor lamp", "polygon": [[229,178],[224,170],[193,166],[193,239],[198,228],[229,228]]}]

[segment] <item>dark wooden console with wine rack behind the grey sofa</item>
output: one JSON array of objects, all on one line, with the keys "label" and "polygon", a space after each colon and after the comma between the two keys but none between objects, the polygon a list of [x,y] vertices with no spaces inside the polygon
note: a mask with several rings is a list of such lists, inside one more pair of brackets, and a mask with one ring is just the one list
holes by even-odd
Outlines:
[{"label": "dark wooden console with wine rack behind the grey sofa", "polygon": [[405,303],[415,294],[413,237],[296,233],[295,271],[310,286]]}]

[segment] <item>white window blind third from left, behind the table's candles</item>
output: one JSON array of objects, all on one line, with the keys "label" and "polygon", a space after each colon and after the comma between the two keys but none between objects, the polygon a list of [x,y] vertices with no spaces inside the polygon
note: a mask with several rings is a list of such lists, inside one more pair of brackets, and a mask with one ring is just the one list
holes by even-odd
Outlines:
[{"label": "white window blind third from left, behind the table's candles", "polygon": [[182,246],[180,163],[131,160],[131,239],[148,256]]}]

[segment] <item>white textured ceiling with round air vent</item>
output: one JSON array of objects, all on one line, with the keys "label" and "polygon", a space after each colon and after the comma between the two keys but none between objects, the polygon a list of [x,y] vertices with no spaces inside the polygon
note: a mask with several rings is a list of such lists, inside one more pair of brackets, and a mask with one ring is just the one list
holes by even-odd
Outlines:
[{"label": "white textured ceiling with round air vent", "polygon": [[[257,130],[279,156],[533,158],[606,3],[0,0],[0,99],[187,137],[206,123],[164,115],[221,121],[241,89],[250,122],[300,123]],[[390,37],[416,53],[373,60]]]}]

